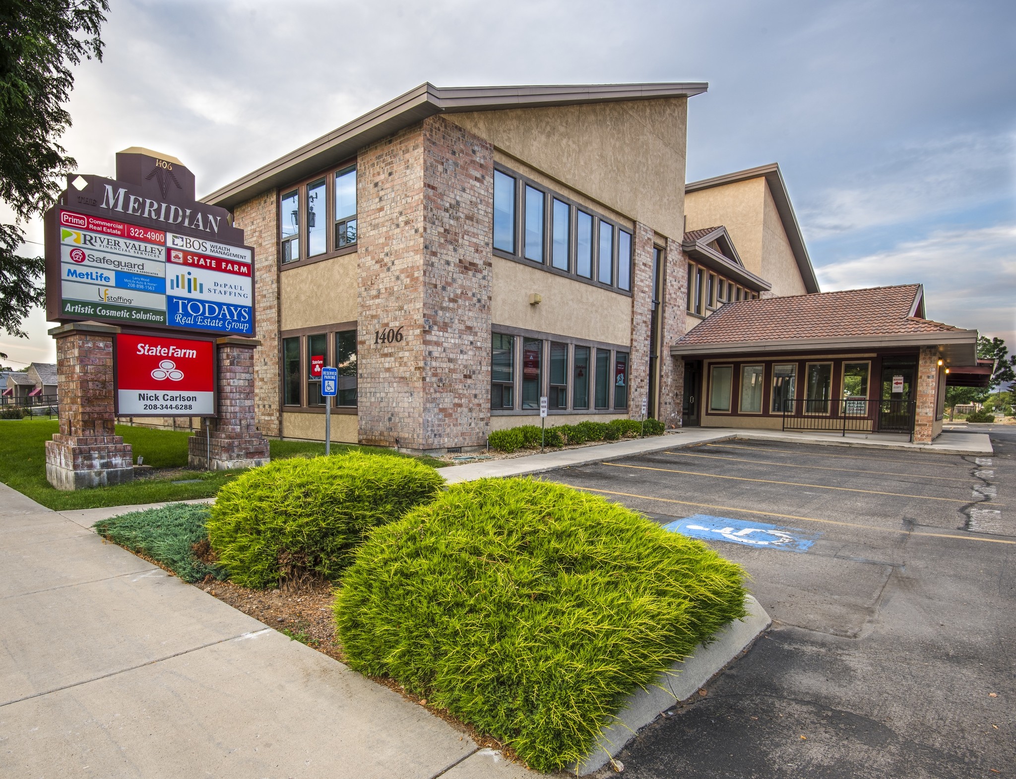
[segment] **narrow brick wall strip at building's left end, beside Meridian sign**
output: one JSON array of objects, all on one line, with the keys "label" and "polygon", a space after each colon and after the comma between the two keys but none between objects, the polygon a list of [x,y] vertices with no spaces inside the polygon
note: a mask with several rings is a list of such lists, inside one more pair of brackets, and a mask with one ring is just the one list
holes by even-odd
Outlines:
[{"label": "narrow brick wall strip at building's left end, beside Meridian sign", "polygon": [[278,436],[279,311],[278,311],[278,209],[275,190],[236,207],[234,224],[244,231],[244,241],[254,248],[254,317],[261,345],[254,350],[254,412],[258,429]]}]

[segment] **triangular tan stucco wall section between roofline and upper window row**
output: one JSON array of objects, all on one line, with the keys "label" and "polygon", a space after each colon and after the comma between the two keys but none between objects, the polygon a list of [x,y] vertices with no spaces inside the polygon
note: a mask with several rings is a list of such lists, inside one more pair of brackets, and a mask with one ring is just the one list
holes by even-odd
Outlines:
[{"label": "triangular tan stucco wall section between roofline and upper window row", "polygon": [[683,233],[687,98],[446,116],[664,236]]}]

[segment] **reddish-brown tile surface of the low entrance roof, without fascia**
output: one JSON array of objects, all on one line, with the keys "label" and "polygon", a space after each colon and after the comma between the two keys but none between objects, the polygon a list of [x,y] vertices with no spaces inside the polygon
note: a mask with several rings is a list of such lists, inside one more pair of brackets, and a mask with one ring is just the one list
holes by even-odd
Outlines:
[{"label": "reddish-brown tile surface of the low entrance roof, without fascia", "polygon": [[919,284],[903,284],[727,303],[675,345],[961,331],[911,317],[914,299],[920,293]]}]

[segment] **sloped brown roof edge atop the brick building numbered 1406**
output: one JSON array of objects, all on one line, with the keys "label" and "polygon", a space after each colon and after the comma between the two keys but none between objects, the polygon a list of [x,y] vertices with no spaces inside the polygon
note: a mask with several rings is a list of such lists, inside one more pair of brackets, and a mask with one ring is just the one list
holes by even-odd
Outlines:
[{"label": "sloped brown roof edge atop the brick building numbered 1406", "polygon": [[436,114],[691,98],[708,88],[705,82],[450,87],[425,82],[220,187],[203,197],[202,202],[233,208],[273,187],[285,186],[330,165],[338,165],[367,144]]}]

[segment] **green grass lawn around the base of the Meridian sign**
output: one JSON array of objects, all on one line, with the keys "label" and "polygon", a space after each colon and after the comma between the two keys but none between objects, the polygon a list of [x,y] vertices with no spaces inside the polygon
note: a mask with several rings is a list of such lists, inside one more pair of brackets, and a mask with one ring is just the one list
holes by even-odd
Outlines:
[{"label": "green grass lawn around the base of the Meridian sign", "polygon": [[[100,506],[133,506],[164,501],[189,501],[210,498],[238,471],[184,471],[167,478],[146,478],[117,486],[78,490],[62,493],[46,480],[46,442],[59,430],[56,419],[0,419],[0,481],[12,486],[31,500],[51,509],[92,509]],[[187,439],[189,433],[118,425],[117,435],[134,448],[134,457],[140,455],[145,465],[155,468],[183,468],[187,466]],[[272,459],[300,455],[323,455],[324,444],[310,441],[271,441]],[[374,447],[357,447],[332,444],[333,454],[350,449],[382,451]],[[443,465],[432,458],[421,458],[431,465]],[[199,479],[187,484],[173,481]]]}]

